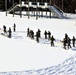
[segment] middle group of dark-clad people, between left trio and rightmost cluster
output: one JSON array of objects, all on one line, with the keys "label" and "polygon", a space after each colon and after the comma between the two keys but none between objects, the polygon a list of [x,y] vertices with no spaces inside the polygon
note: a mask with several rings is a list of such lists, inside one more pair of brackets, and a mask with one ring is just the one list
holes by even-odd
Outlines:
[{"label": "middle group of dark-clad people, between left trio and rightmost cluster", "polygon": [[[54,46],[55,38],[51,36],[51,32],[50,31],[47,32],[45,30],[44,36],[45,36],[45,39],[51,40],[51,46]],[[34,31],[27,28],[27,37],[30,37],[31,39],[34,39],[34,37],[36,37],[36,41],[37,43],[39,43],[39,39],[41,38],[41,30],[38,29],[36,31],[36,35],[34,35]]]}]

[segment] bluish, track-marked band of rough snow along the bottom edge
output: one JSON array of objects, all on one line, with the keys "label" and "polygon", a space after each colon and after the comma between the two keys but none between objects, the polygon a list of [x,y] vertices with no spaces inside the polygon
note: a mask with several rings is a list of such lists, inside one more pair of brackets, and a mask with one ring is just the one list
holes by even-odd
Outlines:
[{"label": "bluish, track-marked band of rough snow along the bottom edge", "polygon": [[56,66],[38,70],[0,72],[0,75],[76,75],[76,56],[74,55]]}]

